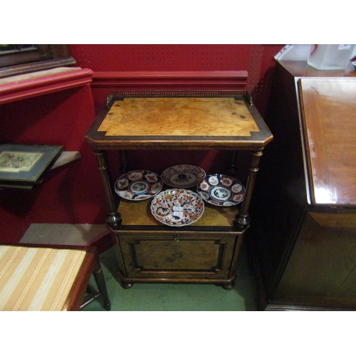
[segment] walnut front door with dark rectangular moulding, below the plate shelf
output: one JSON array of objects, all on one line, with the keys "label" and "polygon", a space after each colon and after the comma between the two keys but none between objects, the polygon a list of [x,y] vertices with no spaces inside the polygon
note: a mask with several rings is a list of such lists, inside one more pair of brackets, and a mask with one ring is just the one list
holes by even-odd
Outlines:
[{"label": "walnut front door with dark rectangular moulding, below the plate shelf", "polygon": [[[125,268],[130,276],[190,275],[228,278],[236,236],[132,236],[119,234]],[[209,278],[209,277],[208,277]]]}]

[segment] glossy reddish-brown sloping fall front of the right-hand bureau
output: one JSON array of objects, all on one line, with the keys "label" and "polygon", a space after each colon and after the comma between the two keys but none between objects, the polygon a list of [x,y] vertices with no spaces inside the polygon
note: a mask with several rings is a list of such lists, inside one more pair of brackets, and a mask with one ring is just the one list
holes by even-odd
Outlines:
[{"label": "glossy reddish-brown sloping fall front of the right-hand bureau", "polygon": [[298,86],[312,202],[356,205],[356,78],[301,78]]}]

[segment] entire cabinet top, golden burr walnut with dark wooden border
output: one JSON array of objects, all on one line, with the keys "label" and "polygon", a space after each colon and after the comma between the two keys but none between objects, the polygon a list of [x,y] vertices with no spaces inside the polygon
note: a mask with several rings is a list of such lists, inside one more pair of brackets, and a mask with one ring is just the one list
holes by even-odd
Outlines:
[{"label": "entire cabinet top, golden burr walnut with dark wooden border", "polygon": [[[90,128],[92,145],[174,145],[262,147],[271,132],[243,98],[125,98],[104,108]],[[228,143],[231,142],[231,143]],[[248,144],[247,144],[248,145]]]}]

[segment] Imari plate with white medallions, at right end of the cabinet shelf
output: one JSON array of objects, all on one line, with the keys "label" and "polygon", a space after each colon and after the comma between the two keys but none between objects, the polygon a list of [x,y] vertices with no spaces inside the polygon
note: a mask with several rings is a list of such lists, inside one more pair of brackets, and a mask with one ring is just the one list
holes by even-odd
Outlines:
[{"label": "Imari plate with white medallions, at right end of the cabinet shelf", "polygon": [[231,206],[244,200],[245,188],[233,177],[211,174],[197,184],[197,192],[208,203]]}]

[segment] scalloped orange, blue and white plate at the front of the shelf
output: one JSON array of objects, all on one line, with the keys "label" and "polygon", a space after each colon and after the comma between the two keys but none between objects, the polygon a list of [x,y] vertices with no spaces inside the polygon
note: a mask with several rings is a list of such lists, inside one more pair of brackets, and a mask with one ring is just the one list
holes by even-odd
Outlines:
[{"label": "scalloped orange, blue and white plate at the front of the shelf", "polygon": [[168,189],[152,199],[151,212],[162,224],[187,226],[201,217],[204,201],[190,190]]}]

